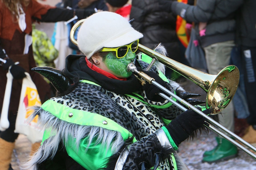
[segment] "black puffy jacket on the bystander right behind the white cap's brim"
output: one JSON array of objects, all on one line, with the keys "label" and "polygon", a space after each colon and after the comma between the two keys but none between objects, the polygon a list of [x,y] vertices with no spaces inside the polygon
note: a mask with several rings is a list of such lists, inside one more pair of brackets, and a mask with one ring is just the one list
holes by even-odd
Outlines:
[{"label": "black puffy jacket on the bystander right behind the white cap's brim", "polygon": [[161,42],[168,56],[180,62],[176,15],[161,11],[157,0],[132,0],[130,19],[132,18],[135,19],[133,28],[144,35],[140,44],[154,49]]}]

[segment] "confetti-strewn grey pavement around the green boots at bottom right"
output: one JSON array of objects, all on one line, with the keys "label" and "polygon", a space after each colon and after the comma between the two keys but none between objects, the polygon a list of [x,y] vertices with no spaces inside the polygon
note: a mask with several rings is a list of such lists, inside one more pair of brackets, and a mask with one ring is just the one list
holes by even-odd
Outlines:
[{"label": "confetti-strewn grey pavement around the green boots at bottom right", "polygon": [[189,170],[256,170],[256,161],[242,150],[234,159],[219,163],[202,163],[205,151],[217,145],[214,132],[203,134],[194,141],[184,141],[179,146],[179,155],[183,158]]}]

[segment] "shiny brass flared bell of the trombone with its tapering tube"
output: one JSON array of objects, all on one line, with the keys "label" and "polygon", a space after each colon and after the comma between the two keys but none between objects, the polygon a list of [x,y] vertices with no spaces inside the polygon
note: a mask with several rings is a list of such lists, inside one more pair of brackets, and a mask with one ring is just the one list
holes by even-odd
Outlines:
[{"label": "shiny brass flared bell of the trombone with its tapering tube", "polygon": [[141,44],[138,50],[180,73],[207,92],[206,107],[211,109],[212,115],[227,107],[236,93],[239,70],[234,65],[225,67],[218,75],[211,75],[176,62]]}]

